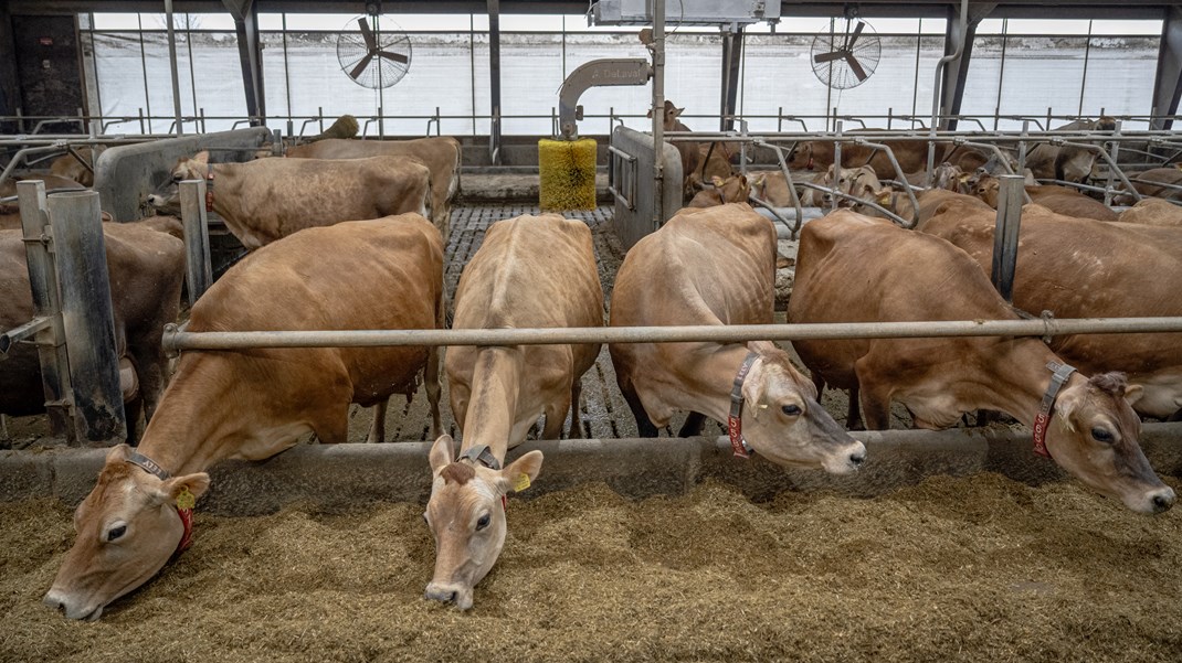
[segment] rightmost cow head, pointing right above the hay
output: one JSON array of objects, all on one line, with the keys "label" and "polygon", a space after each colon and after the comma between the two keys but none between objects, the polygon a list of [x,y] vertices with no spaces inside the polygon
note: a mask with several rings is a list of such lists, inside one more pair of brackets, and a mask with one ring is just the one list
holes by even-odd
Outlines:
[{"label": "rightmost cow head, pointing right above the hay", "polygon": [[1130,403],[1142,393],[1139,385],[1125,385],[1121,373],[1072,375],[1056,401],[1046,447],[1056,462],[1092,488],[1136,512],[1161,513],[1174,505],[1175,495],[1137,444],[1141,419]]}]

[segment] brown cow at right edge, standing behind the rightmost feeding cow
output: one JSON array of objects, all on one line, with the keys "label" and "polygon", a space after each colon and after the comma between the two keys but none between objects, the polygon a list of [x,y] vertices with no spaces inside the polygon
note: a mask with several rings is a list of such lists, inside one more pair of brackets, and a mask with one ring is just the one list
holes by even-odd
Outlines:
[{"label": "brown cow at right edge, standing behind the rightmost feeding cow", "polygon": [[[994,217],[957,214],[921,228],[993,265]],[[1056,317],[1182,315],[1182,230],[1102,223],[1022,208],[1014,306]],[[1182,408],[1182,334],[1056,336],[1051,349],[1084,373],[1121,370],[1143,387],[1132,407],[1168,418]]]}]

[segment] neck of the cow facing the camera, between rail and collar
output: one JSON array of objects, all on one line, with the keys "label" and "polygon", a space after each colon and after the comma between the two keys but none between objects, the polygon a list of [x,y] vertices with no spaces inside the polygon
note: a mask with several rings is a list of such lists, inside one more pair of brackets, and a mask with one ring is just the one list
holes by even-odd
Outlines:
[{"label": "neck of the cow facing the camera, between rail and collar", "polygon": [[524,359],[517,347],[476,349],[461,454],[470,447],[487,446],[498,462],[505,461],[517,419]]}]

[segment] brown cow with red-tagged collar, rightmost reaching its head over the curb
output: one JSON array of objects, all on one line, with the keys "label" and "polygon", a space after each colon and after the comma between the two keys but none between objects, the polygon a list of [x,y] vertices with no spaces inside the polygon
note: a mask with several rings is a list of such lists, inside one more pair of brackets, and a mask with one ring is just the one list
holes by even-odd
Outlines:
[{"label": "brown cow with red-tagged collar, rightmost reaching its head over the curb", "polygon": [[[813,221],[800,232],[791,322],[1017,319],[973,258],[939,237],[847,211]],[[907,406],[920,428],[954,426],[974,409],[1006,412],[1033,426],[1052,383],[1047,367],[1058,362],[1034,337],[793,346],[814,379],[859,389],[871,429],[890,426],[892,400]],[[1071,374],[1053,401],[1050,422],[1039,419],[1039,429],[1050,455],[1067,472],[1134,511],[1156,513],[1174,504],[1174,491],[1154,474],[1137,444],[1141,420],[1128,401],[1139,393],[1121,374]]]}]

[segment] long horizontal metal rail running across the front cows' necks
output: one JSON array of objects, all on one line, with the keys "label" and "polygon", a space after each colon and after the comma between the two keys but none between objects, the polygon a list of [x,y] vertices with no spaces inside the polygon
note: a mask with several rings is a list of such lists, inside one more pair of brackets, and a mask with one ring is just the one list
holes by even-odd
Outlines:
[{"label": "long horizontal metal rail running across the front cows' necks", "polygon": [[164,349],[327,348],[383,346],[528,346],[565,343],[678,343],[800,339],[910,339],[929,336],[1057,336],[1182,332],[1182,317],[839,322],[824,324],[700,324],[691,327],[570,327],[548,329],[363,329],[338,332],[180,332],[164,328]]}]

